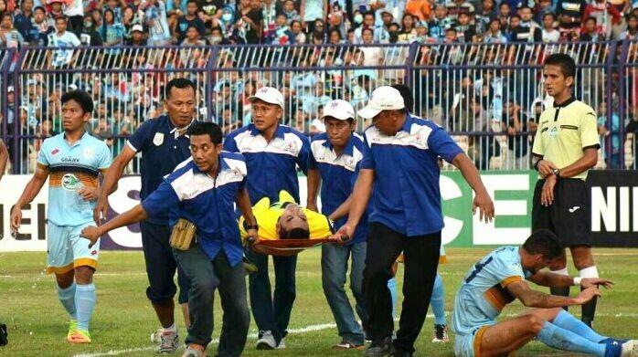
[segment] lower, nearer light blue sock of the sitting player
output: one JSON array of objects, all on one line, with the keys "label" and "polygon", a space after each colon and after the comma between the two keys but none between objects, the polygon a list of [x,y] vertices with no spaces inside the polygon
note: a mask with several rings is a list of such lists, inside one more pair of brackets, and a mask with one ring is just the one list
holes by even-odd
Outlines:
[{"label": "lower, nearer light blue sock of the sitting player", "polygon": [[579,352],[605,357],[606,344],[592,342],[580,337],[580,335],[565,329],[561,329],[551,322],[545,321],[543,329],[538,333],[538,341],[542,341],[549,347],[569,352]]}]

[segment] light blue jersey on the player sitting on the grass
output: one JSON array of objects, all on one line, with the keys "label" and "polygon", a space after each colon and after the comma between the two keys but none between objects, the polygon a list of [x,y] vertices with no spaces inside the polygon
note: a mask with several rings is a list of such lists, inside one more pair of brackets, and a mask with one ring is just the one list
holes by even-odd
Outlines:
[{"label": "light blue jersey on the player sitting on the grass", "polygon": [[506,304],[515,298],[507,285],[531,276],[521,266],[519,247],[500,247],[478,263],[463,278],[456,294],[452,331],[457,335],[475,333],[480,327],[493,325]]}]

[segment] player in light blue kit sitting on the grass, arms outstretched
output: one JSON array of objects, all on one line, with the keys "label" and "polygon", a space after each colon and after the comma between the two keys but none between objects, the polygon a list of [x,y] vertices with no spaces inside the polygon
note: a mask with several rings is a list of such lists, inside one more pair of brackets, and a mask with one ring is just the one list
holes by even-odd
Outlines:
[{"label": "player in light blue kit sitting on the grass, arms outstretched", "polygon": [[[452,330],[457,356],[505,355],[536,338],[550,347],[601,357],[638,356],[638,341],[601,336],[566,310],[600,296],[601,278],[570,278],[540,271],[561,257],[562,243],[546,229],[537,230],[522,247],[500,247],[479,260],[463,278],[456,294]],[[580,285],[576,298],[548,295],[529,288],[527,280],[546,287]],[[529,310],[496,322],[505,305],[519,299]]]}]

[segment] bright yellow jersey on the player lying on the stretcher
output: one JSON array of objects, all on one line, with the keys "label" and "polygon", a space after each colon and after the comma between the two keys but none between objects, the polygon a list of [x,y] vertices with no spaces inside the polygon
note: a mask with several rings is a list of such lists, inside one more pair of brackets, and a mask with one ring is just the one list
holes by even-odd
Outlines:
[{"label": "bright yellow jersey on the player lying on the stretcher", "polygon": [[[252,207],[252,215],[257,219],[260,239],[277,240],[277,220],[282,215],[286,204],[293,204],[292,195],[286,191],[279,193],[279,202],[271,205],[268,197],[262,198]],[[303,208],[303,212],[308,218],[308,227],[310,228],[310,239],[324,239],[333,234],[333,223],[330,219],[322,214]],[[246,227],[244,225],[243,215],[239,218],[239,234],[241,239],[247,236]]]}]

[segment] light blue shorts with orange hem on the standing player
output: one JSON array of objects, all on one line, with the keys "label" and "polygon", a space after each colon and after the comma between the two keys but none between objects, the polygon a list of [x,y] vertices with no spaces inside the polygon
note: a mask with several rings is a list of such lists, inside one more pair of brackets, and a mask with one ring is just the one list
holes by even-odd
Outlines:
[{"label": "light blue shorts with orange hem on the standing player", "polygon": [[47,224],[47,272],[64,274],[81,266],[98,267],[100,240],[89,248],[89,239],[80,237],[86,226],[95,223],[87,222],[80,226],[57,226],[50,221]]}]

